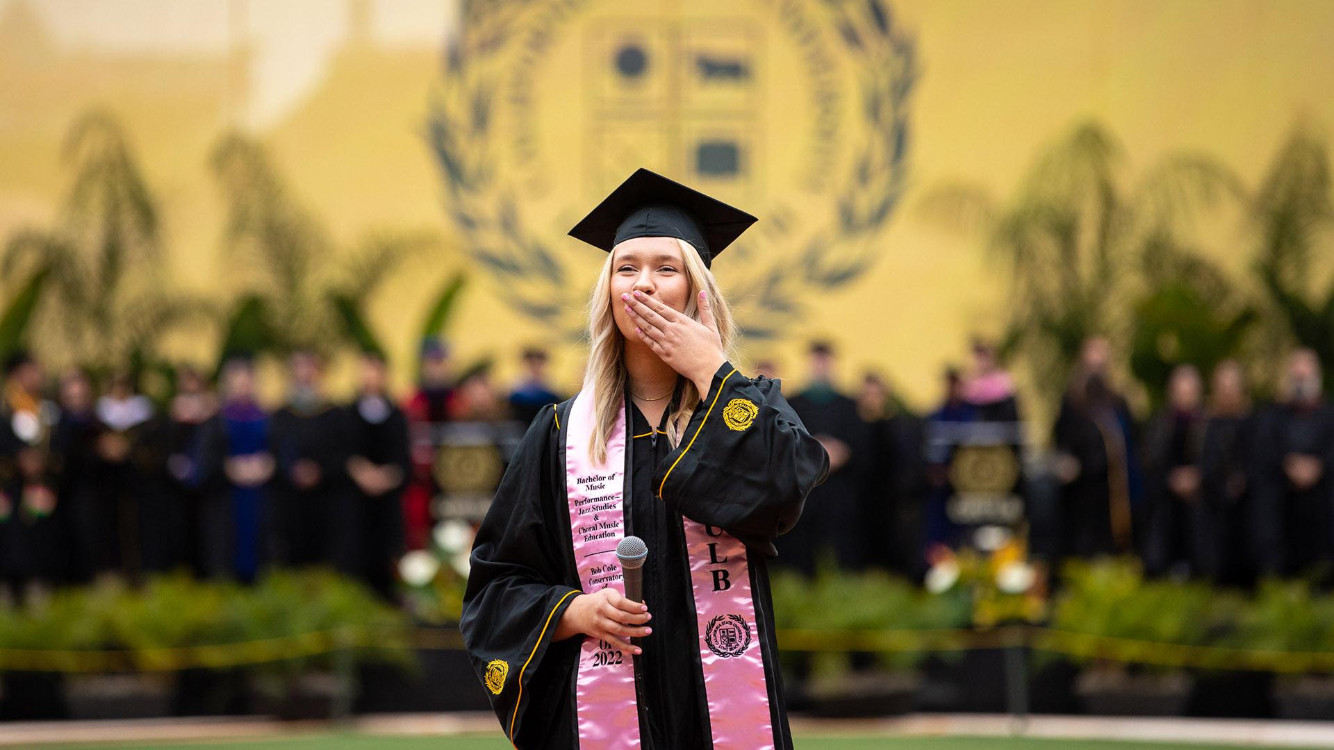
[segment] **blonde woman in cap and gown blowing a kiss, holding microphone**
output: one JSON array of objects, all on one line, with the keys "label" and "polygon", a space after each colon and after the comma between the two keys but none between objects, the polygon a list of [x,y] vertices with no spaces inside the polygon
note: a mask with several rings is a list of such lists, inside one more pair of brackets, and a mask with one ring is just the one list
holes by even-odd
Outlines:
[{"label": "blonde woman in cap and gown blowing a kiss, holding microphone", "polygon": [[[460,625],[516,747],[792,746],[766,558],[828,456],[776,380],[728,362],[710,266],[754,222],[639,169],[570,231],[608,251],[583,390],[510,463]],[[648,547],[643,603],[627,535]]]}]

